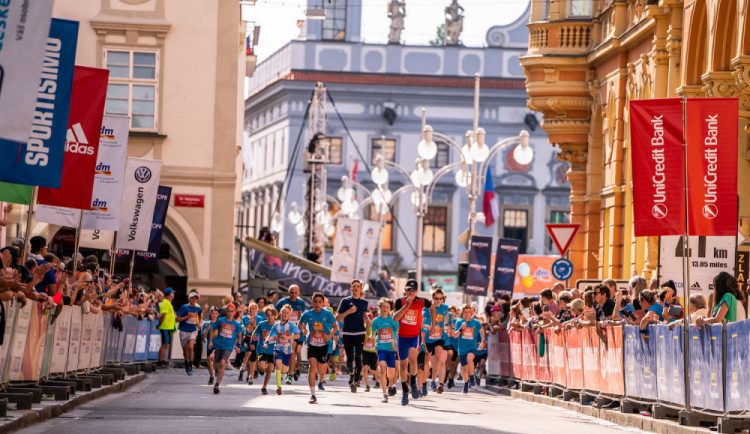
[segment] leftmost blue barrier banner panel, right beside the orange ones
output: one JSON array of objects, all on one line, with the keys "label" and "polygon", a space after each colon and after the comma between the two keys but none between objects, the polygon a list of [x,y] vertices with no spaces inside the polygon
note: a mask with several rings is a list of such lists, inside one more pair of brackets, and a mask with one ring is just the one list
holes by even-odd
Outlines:
[{"label": "leftmost blue barrier banner panel, right beside the orange ones", "polygon": [[648,335],[641,334],[636,326],[625,326],[623,347],[625,351],[625,393],[643,399],[656,399],[656,345],[654,326]]}]

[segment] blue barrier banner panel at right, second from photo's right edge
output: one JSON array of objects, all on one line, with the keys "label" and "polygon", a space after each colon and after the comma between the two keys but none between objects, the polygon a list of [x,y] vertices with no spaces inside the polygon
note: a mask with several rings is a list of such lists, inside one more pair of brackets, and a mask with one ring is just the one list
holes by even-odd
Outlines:
[{"label": "blue barrier banner panel at right, second from photo's right edge", "polygon": [[690,405],[724,410],[722,324],[690,326]]}]

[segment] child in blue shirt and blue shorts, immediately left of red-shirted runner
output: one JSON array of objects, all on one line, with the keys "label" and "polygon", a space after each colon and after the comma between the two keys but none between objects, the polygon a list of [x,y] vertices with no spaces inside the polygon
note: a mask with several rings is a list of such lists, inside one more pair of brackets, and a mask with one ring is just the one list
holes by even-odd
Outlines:
[{"label": "child in blue shirt and blue shorts, immediately left of red-shirted runner", "polygon": [[380,386],[383,388],[382,402],[388,402],[388,396],[396,394],[396,349],[398,347],[395,338],[398,323],[391,318],[391,303],[393,300],[385,297],[378,300],[380,315],[370,325],[372,333],[377,336]]}]

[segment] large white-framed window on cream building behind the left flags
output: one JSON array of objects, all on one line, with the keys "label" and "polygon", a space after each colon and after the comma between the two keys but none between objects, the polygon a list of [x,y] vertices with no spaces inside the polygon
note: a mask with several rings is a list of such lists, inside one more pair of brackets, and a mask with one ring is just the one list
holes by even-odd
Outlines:
[{"label": "large white-framed window on cream building behind the left flags", "polygon": [[158,53],[107,50],[104,55],[109,69],[104,113],[130,116],[134,130],[156,131]]}]

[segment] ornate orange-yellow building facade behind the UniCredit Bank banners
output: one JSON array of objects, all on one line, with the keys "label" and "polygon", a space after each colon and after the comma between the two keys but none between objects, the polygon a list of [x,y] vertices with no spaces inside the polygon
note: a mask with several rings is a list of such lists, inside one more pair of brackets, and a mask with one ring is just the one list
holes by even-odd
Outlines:
[{"label": "ornate orange-yellow building facade behind the UniCredit Bank banners", "polygon": [[[650,277],[658,240],[633,236],[629,101],[740,98],[740,186],[750,181],[747,0],[532,2],[521,59],[529,107],[571,164],[573,279]],[[750,215],[739,189],[739,216]],[[741,218],[742,219],[742,218]]]}]

